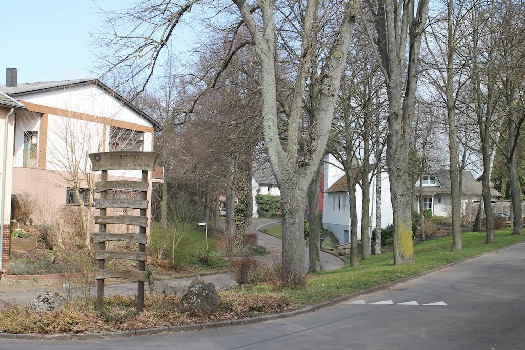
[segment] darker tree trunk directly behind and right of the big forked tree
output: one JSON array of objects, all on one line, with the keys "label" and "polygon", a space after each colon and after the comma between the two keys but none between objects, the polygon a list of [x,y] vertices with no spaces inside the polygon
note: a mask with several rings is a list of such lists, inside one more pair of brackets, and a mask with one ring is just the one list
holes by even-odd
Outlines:
[{"label": "darker tree trunk directly behind and right of the big forked tree", "polygon": [[321,223],[319,220],[319,190],[321,185],[321,171],[324,162],[319,163],[319,168],[308,186],[308,227],[310,234],[308,239],[308,271],[322,271],[321,260]]}]

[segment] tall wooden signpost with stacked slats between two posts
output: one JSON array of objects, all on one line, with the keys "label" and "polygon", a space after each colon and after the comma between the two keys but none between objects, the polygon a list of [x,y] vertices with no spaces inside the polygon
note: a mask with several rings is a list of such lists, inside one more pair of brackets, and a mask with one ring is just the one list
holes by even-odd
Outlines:
[{"label": "tall wooden signpost with stacked slats between two posts", "polygon": [[[99,225],[99,233],[93,234],[91,242],[98,244],[94,258],[98,261],[98,268],[93,269],[97,280],[97,310],[104,307],[104,279],[127,278],[138,281],[137,310],[144,308],[144,282],[146,280],[146,227],[148,226],[148,171],[155,170],[156,152],[99,152],[91,153],[92,170],[101,171],[100,182],[95,184],[95,192],[100,193],[100,198],[95,199],[95,207],[100,209],[100,216],[95,217],[95,224]],[[108,181],[108,170],[141,170],[141,181]],[[123,189],[140,191],[140,199],[107,198],[107,190]],[[140,209],[140,216],[116,215],[108,216],[107,208],[133,208]],[[107,225],[121,224],[139,226],[139,233],[113,234],[106,231]],[[107,241],[124,241],[137,243],[138,252],[106,250]],[[107,259],[127,259],[138,261],[135,270],[108,270],[104,268]]]}]

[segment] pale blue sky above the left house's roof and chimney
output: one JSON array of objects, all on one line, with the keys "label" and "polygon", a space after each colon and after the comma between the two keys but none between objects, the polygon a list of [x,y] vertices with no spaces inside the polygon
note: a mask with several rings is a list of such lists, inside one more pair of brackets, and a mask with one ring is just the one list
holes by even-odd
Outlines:
[{"label": "pale blue sky above the left house's roof and chimney", "polygon": [[6,67],[18,68],[19,82],[95,77],[90,33],[103,24],[100,8],[124,9],[136,1],[0,0],[0,83]]}]

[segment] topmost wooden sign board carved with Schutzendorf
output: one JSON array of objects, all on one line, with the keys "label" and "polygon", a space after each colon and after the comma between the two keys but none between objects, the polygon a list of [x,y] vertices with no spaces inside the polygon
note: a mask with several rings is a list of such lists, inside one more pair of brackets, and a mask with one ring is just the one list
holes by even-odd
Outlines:
[{"label": "topmost wooden sign board carved with Schutzendorf", "polygon": [[157,152],[98,152],[91,153],[92,170],[155,170]]}]

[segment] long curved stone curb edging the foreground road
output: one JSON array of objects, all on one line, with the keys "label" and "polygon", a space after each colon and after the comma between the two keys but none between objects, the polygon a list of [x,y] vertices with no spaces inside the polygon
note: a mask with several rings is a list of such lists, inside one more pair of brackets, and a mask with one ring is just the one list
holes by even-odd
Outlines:
[{"label": "long curved stone curb edging the foreground road", "polygon": [[293,310],[293,311],[269,314],[269,315],[258,316],[258,317],[249,317],[246,319],[226,320],[226,321],[218,321],[218,322],[211,322],[211,323],[185,324],[185,325],[180,325],[180,326],[169,326],[169,327],[160,327],[160,328],[159,327],[158,328],[145,328],[143,330],[131,330],[131,331],[100,332],[100,333],[72,333],[72,334],[68,334],[68,333],[58,333],[58,334],[0,333],[0,339],[40,340],[40,341],[41,340],[46,340],[46,341],[92,340],[92,339],[103,339],[103,338],[138,336],[138,335],[146,335],[146,334],[160,334],[160,333],[166,333],[166,332],[194,331],[194,330],[200,330],[200,329],[230,327],[230,326],[237,326],[237,325],[256,324],[256,323],[261,323],[261,322],[266,322],[266,321],[275,321],[279,319],[286,319],[288,317],[293,317],[293,316],[298,316],[301,314],[318,311],[320,309],[324,309],[325,307],[330,307],[335,304],[339,304],[341,302],[347,301],[349,299],[353,299],[356,296],[390,289],[397,284],[404,283],[410,280],[414,280],[414,279],[423,277],[425,275],[428,275],[428,274],[431,274],[437,271],[445,270],[455,265],[484,257],[490,253],[496,253],[496,252],[499,252],[505,249],[509,249],[509,248],[517,247],[521,245],[525,245],[525,242],[518,243],[516,245],[511,245],[511,246],[501,248],[501,249],[488,251],[476,257],[472,257],[472,258],[457,261],[457,262],[452,262],[452,263],[446,264],[444,266],[440,266],[432,270],[427,270],[427,271],[412,275],[410,277],[406,277],[406,278],[396,280],[390,283],[385,283],[382,285],[377,285],[375,287],[357,291],[351,294],[338,296],[337,298],[334,298],[328,301],[324,301],[322,303],[318,303],[315,305],[303,307],[302,309]]}]

